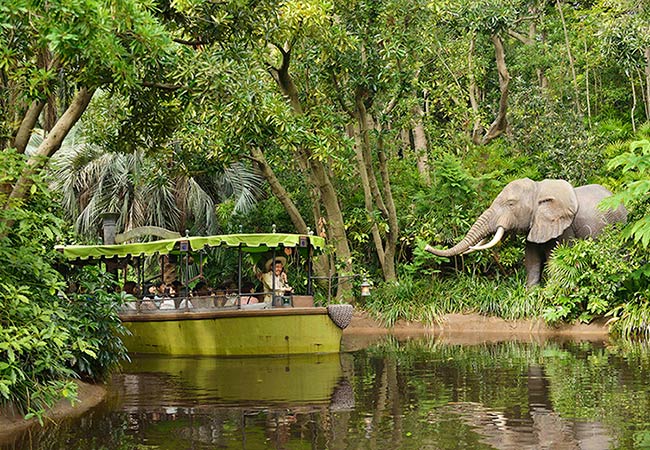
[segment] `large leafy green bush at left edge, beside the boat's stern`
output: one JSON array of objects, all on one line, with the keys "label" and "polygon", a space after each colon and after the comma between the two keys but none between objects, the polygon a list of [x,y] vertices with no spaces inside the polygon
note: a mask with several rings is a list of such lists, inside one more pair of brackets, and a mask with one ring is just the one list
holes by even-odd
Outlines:
[{"label": "large leafy green bush at left edge, beside the boat's stern", "polygon": [[[0,152],[8,168],[0,183],[14,181],[22,161]],[[0,406],[42,420],[45,408],[76,398],[74,378],[105,378],[125,352],[113,334],[119,297],[103,293],[104,279],[86,270],[80,286],[93,295],[63,294],[53,248],[64,224],[42,180],[35,182],[29,203],[0,210]]]}]

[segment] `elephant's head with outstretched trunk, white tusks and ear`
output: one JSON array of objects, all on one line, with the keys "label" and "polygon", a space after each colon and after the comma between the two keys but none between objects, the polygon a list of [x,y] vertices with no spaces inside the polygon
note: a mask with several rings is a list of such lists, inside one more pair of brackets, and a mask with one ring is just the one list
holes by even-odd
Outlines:
[{"label": "elephant's head with outstretched trunk, white tusks and ear", "polygon": [[[527,240],[545,243],[560,237],[571,226],[578,200],[564,180],[512,181],[481,214],[465,237],[448,250],[430,245],[425,250],[438,256],[456,256],[496,245],[506,231],[527,232]],[[490,242],[487,238],[494,234]]]}]

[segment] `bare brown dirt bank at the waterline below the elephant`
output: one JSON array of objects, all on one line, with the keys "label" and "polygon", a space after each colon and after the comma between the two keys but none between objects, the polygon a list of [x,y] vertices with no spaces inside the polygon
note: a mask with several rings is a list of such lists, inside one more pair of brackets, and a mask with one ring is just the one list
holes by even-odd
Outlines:
[{"label": "bare brown dirt bank at the waterline below the elephant", "polygon": [[432,335],[441,342],[467,345],[550,339],[606,342],[609,327],[605,321],[550,327],[541,319],[508,321],[480,314],[447,314],[439,324],[433,325],[398,321],[393,327],[385,327],[367,312],[355,311],[352,322],[343,331],[343,347],[345,351],[362,349],[388,334],[398,339]]}]

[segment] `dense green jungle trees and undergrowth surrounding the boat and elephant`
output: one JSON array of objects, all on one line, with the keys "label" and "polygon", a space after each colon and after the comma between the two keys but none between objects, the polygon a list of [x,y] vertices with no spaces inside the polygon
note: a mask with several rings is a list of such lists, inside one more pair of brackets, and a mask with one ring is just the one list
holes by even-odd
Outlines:
[{"label": "dense green jungle trees and undergrowth surrounding the boat and elephant", "polygon": [[[109,208],[121,229],[322,234],[319,274],[372,280],[357,305],[388,323],[478,311],[650,333],[647,2],[2,0],[0,30],[2,402],[39,414],[124,356],[98,345],[119,298],[66,295],[52,254],[98,242]],[[423,251],[520,177],[601,183],[628,224],[558,248],[531,291],[521,237]]]}]

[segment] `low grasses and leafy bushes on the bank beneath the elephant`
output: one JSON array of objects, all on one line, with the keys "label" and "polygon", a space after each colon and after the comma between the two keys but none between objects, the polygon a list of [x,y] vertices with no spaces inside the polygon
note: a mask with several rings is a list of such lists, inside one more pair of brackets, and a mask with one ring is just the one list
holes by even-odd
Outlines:
[{"label": "low grasses and leafy bushes on the bank beneath the elephant", "polygon": [[[542,285],[527,290],[523,267],[512,275],[475,272],[379,284],[363,307],[387,326],[398,320],[436,323],[450,313],[479,313],[506,320],[543,317],[549,324],[607,317],[614,333],[650,336],[650,263],[647,252],[627,245],[620,227],[598,240],[560,245]],[[506,248],[506,250],[508,250]],[[523,266],[523,261],[521,261]]]}]

